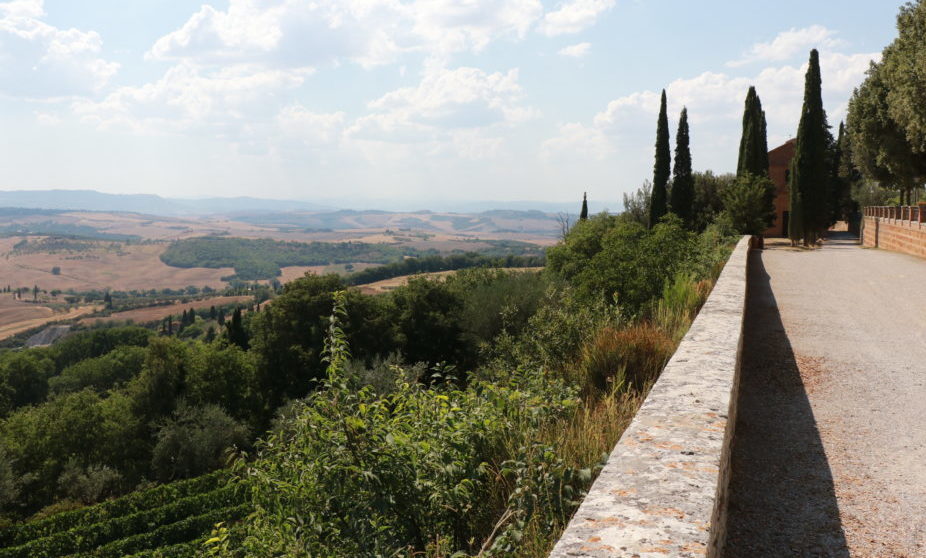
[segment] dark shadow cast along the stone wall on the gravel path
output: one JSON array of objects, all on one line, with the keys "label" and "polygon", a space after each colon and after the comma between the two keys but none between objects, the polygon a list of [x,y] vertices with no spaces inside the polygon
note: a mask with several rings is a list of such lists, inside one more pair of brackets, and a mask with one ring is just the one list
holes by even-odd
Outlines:
[{"label": "dark shadow cast along the stone wall on the gravel path", "polygon": [[833,475],[760,251],[749,256],[731,459],[725,557],[849,556]]}]

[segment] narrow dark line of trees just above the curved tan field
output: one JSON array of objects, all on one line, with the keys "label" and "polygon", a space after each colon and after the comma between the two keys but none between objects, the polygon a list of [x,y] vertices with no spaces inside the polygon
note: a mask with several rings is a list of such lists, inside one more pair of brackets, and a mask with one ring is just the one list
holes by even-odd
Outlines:
[{"label": "narrow dark line of trees just above the curved tan field", "polygon": [[546,258],[538,256],[492,257],[475,252],[466,254],[452,254],[449,256],[424,256],[421,258],[406,258],[400,262],[393,262],[378,267],[372,267],[351,274],[345,279],[348,285],[365,285],[393,277],[413,275],[416,273],[433,273],[437,271],[452,271],[472,267],[488,268],[515,268],[515,267],[542,267]]}]

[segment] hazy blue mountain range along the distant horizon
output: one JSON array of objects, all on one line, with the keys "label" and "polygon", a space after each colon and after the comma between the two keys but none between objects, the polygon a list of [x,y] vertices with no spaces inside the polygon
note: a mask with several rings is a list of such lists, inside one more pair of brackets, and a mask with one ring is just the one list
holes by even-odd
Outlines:
[{"label": "hazy blue mountain range along the distant horizon", "polygon": [[[105,194],[95,190],[7,190],[0,191],[0,207],[30,209],[56,209],[73,211],[127,211],[162,216],[184,215],[242,215],[277,212],[331,212],[348,207],[354,210],[381,211],[452,211],[481,213],[490,210],[543,211],[545,213],[577,214],[579,202],[532,201],[438,201],[407,202],[401,200],[337,200],[334,202],[306,202],[296,200],[269,200],[251,197],[181,199],[163,198],[152,194]],[[620,207],[590,202],[592,212]],[[417,207],[413,207],[417,206]],[[597,207],[595,207],[597,206]]]}]

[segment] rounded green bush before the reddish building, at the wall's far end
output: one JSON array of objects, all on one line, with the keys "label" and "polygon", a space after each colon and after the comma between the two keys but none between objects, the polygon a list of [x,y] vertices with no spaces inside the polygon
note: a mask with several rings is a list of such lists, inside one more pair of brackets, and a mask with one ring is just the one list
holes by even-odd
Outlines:
[{"label": "rounded green bush before the reddish building, at the wall's far end", "polygon": [[739,234],[762,234],[775,219],[775,184],[768,176],[743,174],[724,189],[724,214]]}]

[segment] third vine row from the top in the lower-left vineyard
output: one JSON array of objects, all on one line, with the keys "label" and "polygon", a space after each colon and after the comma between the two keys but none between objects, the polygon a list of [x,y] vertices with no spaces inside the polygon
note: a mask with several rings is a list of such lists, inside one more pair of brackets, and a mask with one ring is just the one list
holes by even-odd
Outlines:
[{"label": "third vine row from the top in the lower-left vineyard", "polygon": [[251,511],[250,504],[188,517],[170,525],[164,525],[148,533],[141,533],[113,541],[96,550],[72,554],[71,558],[122,558],[147,549],[168,547],[179,543],[195,541],[208,534],[216,523],[236,521]]}]

